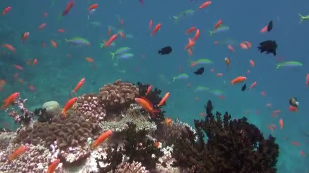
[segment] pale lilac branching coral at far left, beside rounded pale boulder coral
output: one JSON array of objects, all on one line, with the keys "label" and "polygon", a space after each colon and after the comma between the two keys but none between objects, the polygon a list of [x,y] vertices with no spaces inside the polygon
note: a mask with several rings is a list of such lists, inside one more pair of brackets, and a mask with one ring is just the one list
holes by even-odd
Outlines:
[{"label": "pale lilac branching coral at far left, beside rounded pale boulder coral", "polygon": [[27,101],[27,99],[21,99],[18,98],[15,101],[15,105],[18,107],[19,111],[21,112],[18,113],[17,110],[15,110],[14,108],[7,108],[5,111],[6,113],[14,118],[14,121],[17,123],[20,123],[21,125],[29,125],[33,122],[33,116],[34,113],[29,111],[25,106],[25,102]]}]

